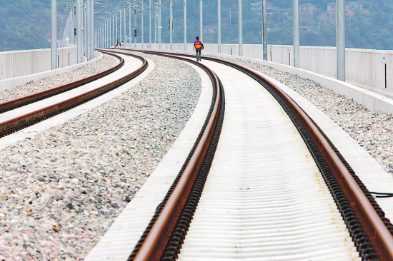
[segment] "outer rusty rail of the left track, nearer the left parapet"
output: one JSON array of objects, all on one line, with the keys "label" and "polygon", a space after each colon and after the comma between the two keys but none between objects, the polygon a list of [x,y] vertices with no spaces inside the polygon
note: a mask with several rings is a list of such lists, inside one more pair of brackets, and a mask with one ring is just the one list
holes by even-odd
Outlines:
[{"label": "outer rusty rail of the left track, nearer the left parapet", "polygon": [[83,78],[79,81],[74,81],[72,83],[64,84],[63,86],[51,88],[46,91],[34,93],[29,96],[24,96],[24,97],[17,98],[12,101],[7,101],[5,103],[0,103],[0,113],[4,113],[6,111],[11,111],[16,108],[20,108],[22,106],[26,106],[28,104],[35,103],[36,101],[41,101],[44,98],[49,98],[49,97],[55,96],[57,94],[64,93],[65,91],[70,91],[70,90],[77,88],[79,86],[83,86],[86,83],[90,83],[92,81],[98,80],[99,78],[107,76],[107,75],[109,75],[109,73],[113,73],[114,71],[117,71],[117,70],[119,70],[119,68],[124,66],[124,59],[123,58],[121,58],[120,56],[116,56],[115,54],[112,54],[112,53],[106,53],[106,54],[109,54],[111,56],[118,58],[119,64],[116,64],[116,66],[109,68],[106,71],[102,71],[101,73],[96,73],[93,76]]}]

